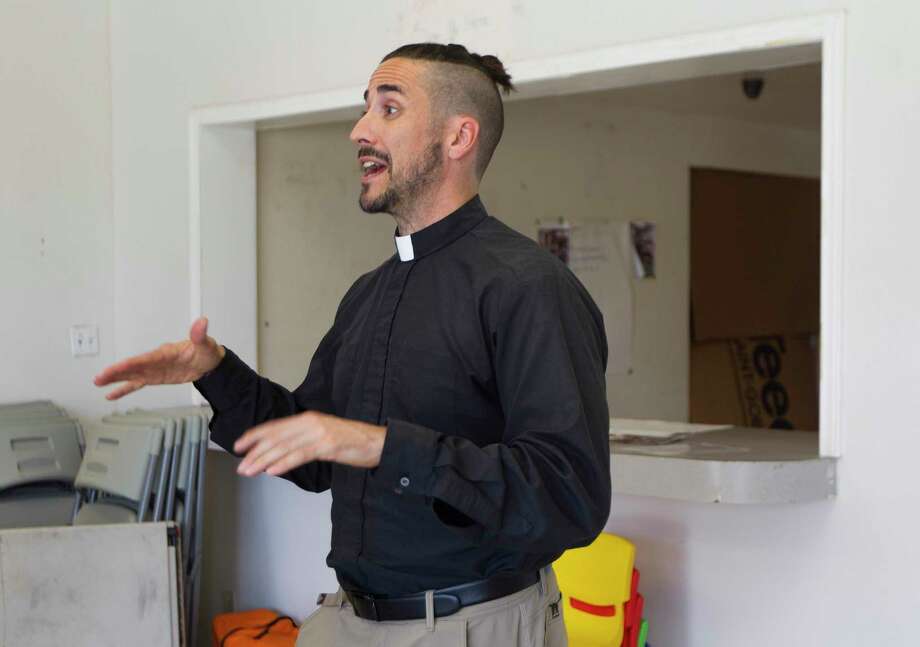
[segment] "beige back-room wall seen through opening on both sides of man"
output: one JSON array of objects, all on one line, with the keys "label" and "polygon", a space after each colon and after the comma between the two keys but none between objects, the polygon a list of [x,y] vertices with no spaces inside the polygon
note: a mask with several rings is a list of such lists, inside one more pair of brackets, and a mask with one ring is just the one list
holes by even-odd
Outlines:
[{"label": "beige back-room wall seen through opening on both sides of man", "polygon": [[[632,373],[608,375],[607,397],[617,417],[687,420],[690,167],[817,177],[820,134],[624,107],[620,94],[510,103],[481,194],[532,238],[560,216],[657,223],[657,277],[632,280]],[[258,136],[260,369],[290,388],[351,283],[394,253],[392,218],[357,206],[352,125]],[[611,337],[622,322],[605,324]]]}]

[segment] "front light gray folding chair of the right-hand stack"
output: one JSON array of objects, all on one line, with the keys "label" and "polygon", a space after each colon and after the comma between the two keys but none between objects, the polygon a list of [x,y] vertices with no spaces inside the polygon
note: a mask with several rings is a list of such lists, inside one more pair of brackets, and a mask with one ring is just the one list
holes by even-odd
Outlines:
[{"label": "front light gray folding chair of the right-hand stack", "polygon": [[106,496],[84,504],[74,525],[145,521],[163,451],[162,427],[97,424],[85,431],[86,453],[75,485]]}]

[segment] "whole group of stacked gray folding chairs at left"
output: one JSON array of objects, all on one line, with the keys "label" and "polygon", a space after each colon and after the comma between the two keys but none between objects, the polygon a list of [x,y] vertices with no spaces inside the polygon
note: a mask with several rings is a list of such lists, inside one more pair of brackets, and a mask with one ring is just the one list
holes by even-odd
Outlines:
[{"label": "whole group of stacked gray folding chairs at left", "polygon": [[174,612],[196,644],[209,419],[200,407],[133,410],[83,428],[47,400],[0,404],[0,529],[172,522]]}]

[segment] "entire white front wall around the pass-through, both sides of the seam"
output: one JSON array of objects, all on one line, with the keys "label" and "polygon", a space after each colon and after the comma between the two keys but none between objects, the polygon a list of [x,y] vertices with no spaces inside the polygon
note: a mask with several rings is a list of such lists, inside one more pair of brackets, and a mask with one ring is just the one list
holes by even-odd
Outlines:
[{"label": "entire white front wall around the pass-through, both sides of the seam", "polygon": [[[826,8],[848,11],[840,495],[757,508],[622,497],[611,527],[639,544],[656,647],[909,644],[920,631],[913,478],[920,455],[920,8],[907,0],[736,0],[705,9],[673,0],[112,3],[111,162],[105,5],[5,3],[3,394],[84,401],[83,387],[71,386],[82,367],[77,375],[77,363],[52,350],[65,343],[66,325],[76,323],[70,319],[97,319],[100,364],[111,352],[113,312],[118,356],[185,333],[192,107],[363,83],[383,53],[407,40],[464,41],[497,53],[513,73],[514,62],[527,58]],[[32,67],[15,66],[8,81],[11,57]],[[107,233],[110,168],[114,241]],[[46,253],[70,260],[49,267],[47,255],[28,251],[39,223],[50,236]],[[64,241],[67,252],[51,250]],[[113,267],[114,285],[106,278]],[[14,279],[30,277],[40,279],[41,298],[16,286]],[[58,326],[59,318],[67,321]],[[23,386],[38,380],[53,388]],[[160,389],[132,401],[186,397]]]}]

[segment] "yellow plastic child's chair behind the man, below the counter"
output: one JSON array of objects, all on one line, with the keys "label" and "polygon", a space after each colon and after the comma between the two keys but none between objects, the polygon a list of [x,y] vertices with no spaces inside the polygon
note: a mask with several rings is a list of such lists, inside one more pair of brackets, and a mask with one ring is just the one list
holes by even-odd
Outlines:
[{"label": "yellow plastic child's chair behind the man, below the counter", "polygon": [[605,532],[553,563],[570,647],[620,647],[635,559],[632,543]]}]

